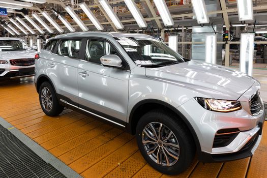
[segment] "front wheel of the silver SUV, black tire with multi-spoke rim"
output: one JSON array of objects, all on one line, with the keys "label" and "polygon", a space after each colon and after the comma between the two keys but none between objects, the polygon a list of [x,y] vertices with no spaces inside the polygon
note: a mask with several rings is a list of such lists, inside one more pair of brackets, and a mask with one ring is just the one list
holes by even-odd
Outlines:
[{"label": "front wheel of the silver SUV, black tire with multi-spoke rim", "polygon": [[[146,133],[150,133],[150,136],[157,140],[157,138],[159,138],[158,131],[161,124],[161,141],[151,143],[152,139],[148,137]],[[153,132],[152,127],[154,127],[156,134],[153,134],[155,132]],[[144,129],[146,129],[145,132]],[[169,134],[170,131],[172,131],[173,134]],[[166,141],[169,135],[170,137]],[[176,175],[185,171],[190,166],[195,156],[196,149],[193,137],[186,125],[174,114],[167,113],[163,110],[152,110],[140,118],[136,128],[136,139],[139,150],[147,163],[164,174]],[[162,142],[163,140],[165,141]],[[143,144],[143,141],[146,143]],[[160,149],[155,150],[157,145]],[[162,150],[164,150],[165,154],[169,157],[168,162]],[[170,150],[172,152],[170,152]],[[171,157],[167,151],[174,157]]]}]

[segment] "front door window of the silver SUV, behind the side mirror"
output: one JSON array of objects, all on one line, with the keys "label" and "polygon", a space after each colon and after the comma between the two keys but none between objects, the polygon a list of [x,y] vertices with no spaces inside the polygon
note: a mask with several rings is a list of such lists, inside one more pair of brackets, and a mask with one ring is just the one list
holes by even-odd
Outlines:
[{"label": "front door window of the silver SUV, behind the side mirror", "polygon": [[117,54],[115,49],[104,40],[87,40],[85,49],[85,60],[101,64],[100,58],[103,55]]}]

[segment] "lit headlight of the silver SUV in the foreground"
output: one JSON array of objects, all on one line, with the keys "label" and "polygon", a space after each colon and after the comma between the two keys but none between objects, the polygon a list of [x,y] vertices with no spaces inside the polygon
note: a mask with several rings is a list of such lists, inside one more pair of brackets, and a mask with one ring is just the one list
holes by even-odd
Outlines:
[{"label": "lit headlight of the silver SUV in the foreground", "polygon": [[205,109],[217,112],[231,112],[241,109],[239,101],[217,100],[209,98],[195,98]]}]

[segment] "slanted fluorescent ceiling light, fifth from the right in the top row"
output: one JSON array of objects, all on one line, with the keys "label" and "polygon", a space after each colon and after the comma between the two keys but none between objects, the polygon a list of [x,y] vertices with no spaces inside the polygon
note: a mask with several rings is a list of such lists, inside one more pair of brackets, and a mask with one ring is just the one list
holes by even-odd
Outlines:
[{"label": "slanted fluorescent ceiling light, fifth from the right in the top row", "polygon": [[112,20],[113,24],[116,26],[117,29],[123,29],[124,26],[120,19],[118,19],[117,15],[114,13],[113,9],[109,5],[109,3],[106,0],[99,0],[99,3],[101,4],[102,8],[105,10],[109,18]]}]

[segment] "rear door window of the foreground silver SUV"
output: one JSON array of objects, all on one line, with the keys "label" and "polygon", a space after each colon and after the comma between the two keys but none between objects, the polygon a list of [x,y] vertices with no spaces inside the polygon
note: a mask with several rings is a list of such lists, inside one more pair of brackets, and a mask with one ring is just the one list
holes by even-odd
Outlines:
[{"label": "rear door window of the foreground silver SUV", "polygon": [[81,48],[81,39],[62,40],[58,45],[56,53],[71,58],[79,58],[80,48]]}]

